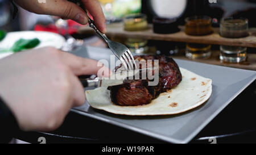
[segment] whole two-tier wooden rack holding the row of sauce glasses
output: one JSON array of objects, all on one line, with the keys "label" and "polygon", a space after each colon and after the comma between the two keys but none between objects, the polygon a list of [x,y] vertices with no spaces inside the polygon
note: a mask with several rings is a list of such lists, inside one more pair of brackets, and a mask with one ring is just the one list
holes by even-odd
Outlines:
[{"label": "whole two-tier wooden rack holding the row of sauce glasses", "polygon": [[[200,43],[200,44],[214,44],[214,45],[233,45],[233,46],[243,46],[256,48],[256,30],[250,30],[250,36],[241,38],[241,39],[227,39],[218,35],[218,28],[214,28],[214,33],[207,36],[189,36],[184,32],[184,27],[180,26],[181,31],[177,33],[162,35],[152,32],[152,26],[150,25],[148,30],[144,31],[124,31],[122,23],[115,23],[108,25],[108,32],[106,35],[110,37],[110,39],[126,39],[126,38],[140,38],[140,39],[148,39],[148,40],[162,40],[162,41],[174,41],[181,43]],[[84,26],[79,29],[80,35],[88,35],[95,34],[93,29]],[[155,48],[150,48],[149,53],[155,53]],[[180,49],[177,55],[173,55],[171,57],[178,58],[182,60],[202,62],[205,64],[212,65],[220,65],[220,66],[228,66],[232,68],[240,68],[247,70],[256,70],[256,53],[248,53],[247,61],[242,62],[240,64],[230,64],[221,62],[219,59],[220,51],[213,49],[212,56],[208,59],[196,59],[191,60],[185,57],[184,49]]]}]

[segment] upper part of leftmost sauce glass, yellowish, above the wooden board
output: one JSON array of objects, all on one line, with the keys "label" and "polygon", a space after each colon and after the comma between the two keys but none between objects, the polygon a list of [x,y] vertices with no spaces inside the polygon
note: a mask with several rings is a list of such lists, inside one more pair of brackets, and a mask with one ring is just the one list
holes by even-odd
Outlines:
[{"label": "upper part of leftmost sauce glass, yellowish, above the wooden board", "polygon": [[125,31],[140,31],[146,30],[147,26],[147,15],[145,14],[130,14],[125,16],[123,19]]}]

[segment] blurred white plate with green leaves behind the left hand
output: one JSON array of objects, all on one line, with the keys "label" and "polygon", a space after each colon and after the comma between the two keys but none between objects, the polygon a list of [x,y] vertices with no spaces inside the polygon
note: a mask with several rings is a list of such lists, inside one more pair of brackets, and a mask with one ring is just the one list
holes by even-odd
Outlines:
[{"label": "blurred white plate with green leaves behind the left hand", "polygon": [[[65,43],[65,38],[57,33],[44,31],[19,31],[7,33],[5,39],[0,41],[0,49],[10,49],[19,39],[34,39],[38,38],[40,44],[35,48],[55,47],[60,49]],[[1,53],[0,59],[13,54],[12,51]]]}]

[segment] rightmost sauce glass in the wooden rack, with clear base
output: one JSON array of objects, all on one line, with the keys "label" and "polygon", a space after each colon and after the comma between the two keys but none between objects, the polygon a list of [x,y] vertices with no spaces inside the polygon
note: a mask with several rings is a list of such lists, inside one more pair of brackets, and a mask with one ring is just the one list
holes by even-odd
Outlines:
[{"label": "rightmost sauce glass in the wooden rack, with clear base", "polygon": [[[223,18],[220,24],[220,35],[228,38],[241,38],[249,35],[248,20],[245,18]],[[220,60],[230,63],[246,61],[246,47],[220,46]]]}]

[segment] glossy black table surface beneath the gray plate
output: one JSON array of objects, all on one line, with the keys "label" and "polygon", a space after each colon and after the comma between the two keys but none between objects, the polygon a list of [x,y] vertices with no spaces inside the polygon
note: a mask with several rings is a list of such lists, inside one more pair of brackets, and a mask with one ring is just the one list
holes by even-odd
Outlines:
[{"label": "glossy black table surface beneath the gray plate", "polygon": [[[256,81],[216,116],[190,143],[256,143]],[[154,125],[154,124],[153,124]],[[165,143],[125,128],[69,112],[63,125],[54,132],[19,131],[15,138],[28,143]]]}]

